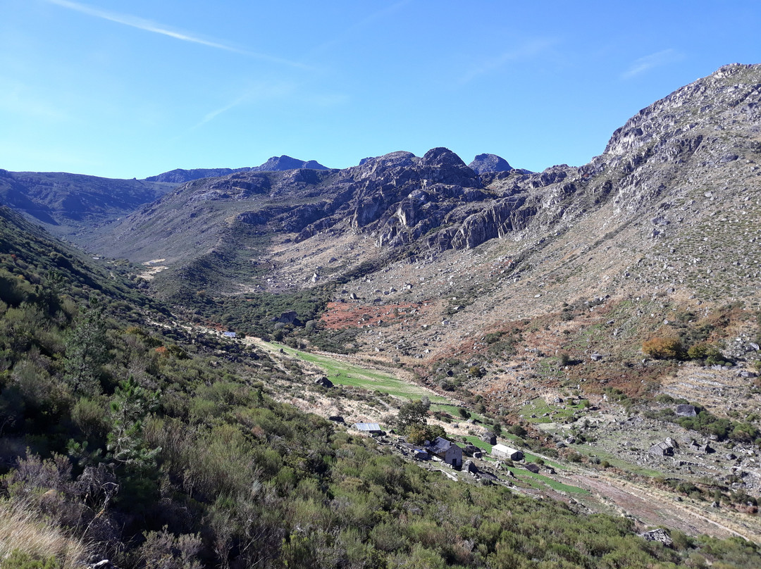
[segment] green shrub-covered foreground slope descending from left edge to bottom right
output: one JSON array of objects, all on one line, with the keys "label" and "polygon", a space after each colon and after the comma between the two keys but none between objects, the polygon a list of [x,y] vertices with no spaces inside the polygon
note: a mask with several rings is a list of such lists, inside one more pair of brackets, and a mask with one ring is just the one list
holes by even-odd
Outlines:
[{"label": "green shrub-covered foreground slope descending from left edge to bottom right", "polygon": [[626,518],[405,463],[275,402],[268,379],[284,372],[269,358],[152,324],[161,307],[116,272],[107,284],[53,243],[43,253],[14,221],[0,275],[3,567],[761,563],[739,539],[673,532],[664,548]]}]

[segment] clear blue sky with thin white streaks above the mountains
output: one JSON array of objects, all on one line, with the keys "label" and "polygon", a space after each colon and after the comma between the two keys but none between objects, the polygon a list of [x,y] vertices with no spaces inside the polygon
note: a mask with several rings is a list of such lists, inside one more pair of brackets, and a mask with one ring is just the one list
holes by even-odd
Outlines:
[{"label": "clear blue sky with thin white streaks above the mountains", "polygon": [[446,146],[543,170],[761,62],[753,2],[0,0],[0,167],[142,178]]}]

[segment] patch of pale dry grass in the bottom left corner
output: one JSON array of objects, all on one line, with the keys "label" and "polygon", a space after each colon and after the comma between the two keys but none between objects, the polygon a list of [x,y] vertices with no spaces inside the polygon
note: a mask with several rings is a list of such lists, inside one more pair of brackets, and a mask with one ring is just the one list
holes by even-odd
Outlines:
[{"label": "patch of pale dry grass in the bottom left corner", "polygon": [[0,566],[17,549],[37,559],[55,557],[61,569],[81,567],[88,555],[84,542],[36,520],[33,507],[0,501]]}]

